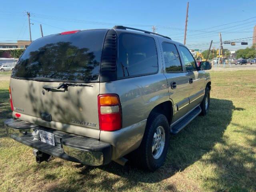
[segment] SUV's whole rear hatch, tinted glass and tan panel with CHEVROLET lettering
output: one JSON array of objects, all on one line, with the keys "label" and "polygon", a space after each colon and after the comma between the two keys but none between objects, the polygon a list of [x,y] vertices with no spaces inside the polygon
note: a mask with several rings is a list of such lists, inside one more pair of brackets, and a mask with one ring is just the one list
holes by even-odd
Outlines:
[{"label": "SUV's whole rear hatch, tinted glass and tan panel with CHEVROLET lettering", "polygon": [[14,111],[21,120],[98,137],[89,133],[99,130],[97,96],[106,32],[85,30],[32,42],[10,80]]}]

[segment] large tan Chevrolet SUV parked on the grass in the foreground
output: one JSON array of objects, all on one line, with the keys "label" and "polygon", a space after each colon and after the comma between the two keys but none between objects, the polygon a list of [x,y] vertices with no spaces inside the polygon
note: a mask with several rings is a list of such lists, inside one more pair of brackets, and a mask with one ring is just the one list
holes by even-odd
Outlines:
[{"label": "large tan Chevrolet SUV parked on the grass in the foreground", "polygon": [[210,68],[179,42],[124,26],[45,36],[12,72],[6,131],[38,163],[125,164],[125,156],[154,171],[169,134],[208,113]]}]

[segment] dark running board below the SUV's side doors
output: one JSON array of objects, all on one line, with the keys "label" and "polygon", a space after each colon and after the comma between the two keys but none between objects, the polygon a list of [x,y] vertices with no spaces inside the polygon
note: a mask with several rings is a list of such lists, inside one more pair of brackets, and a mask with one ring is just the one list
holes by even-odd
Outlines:
[{"label": "dark running board below the SUV's side doors", "polygon": [[194,108],[194,110],[190,111],[186,116],[184,116],[182,119],[178,120],[174,124],[170,126],[170,131],[172,134],[177,134],[182,130],[187,124],[189,124],[196,116],[198,116],[201,113],[201,107],[197,106]]}]

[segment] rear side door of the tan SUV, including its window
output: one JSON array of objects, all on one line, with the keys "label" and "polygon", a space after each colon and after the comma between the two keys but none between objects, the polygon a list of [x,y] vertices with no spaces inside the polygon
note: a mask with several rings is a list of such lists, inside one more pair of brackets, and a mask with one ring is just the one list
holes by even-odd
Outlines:
[{"label": "rear side door of the tan SUV, including its window", "polygon": [[178,120],[188,111],[189,84],[188,76],[180,61],[175,44],[162,42],[164,74],[168,82],[169,96],[174,104],[174,120]]}]

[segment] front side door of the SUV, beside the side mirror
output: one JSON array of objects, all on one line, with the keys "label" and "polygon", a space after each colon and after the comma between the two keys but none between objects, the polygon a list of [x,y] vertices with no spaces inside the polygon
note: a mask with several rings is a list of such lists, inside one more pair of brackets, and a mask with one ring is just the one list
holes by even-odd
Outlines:
[{"label": "front side door of the SUV, beside the side mirror", "polygon": [[182,57],[183,64],[186,69],[186,75],[189,81],[189,109],[193,109],[195,106],[200,104],[204,97],[204,71],[198,71],[196,67],[196,61],[188,48],[185,46],[180,47],[180,54]]}]

